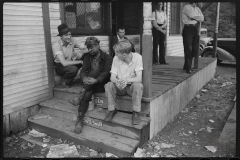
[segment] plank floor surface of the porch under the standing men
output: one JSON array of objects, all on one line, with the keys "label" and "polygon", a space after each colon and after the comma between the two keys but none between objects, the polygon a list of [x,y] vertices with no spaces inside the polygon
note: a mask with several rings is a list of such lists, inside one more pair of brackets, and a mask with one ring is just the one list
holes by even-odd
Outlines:
[{"label": "plank floor surface of the porch under the standing men", "polygon": [[[184,57],[166,56],[166,61],[169,65],[154,65],[152,68],[151,100],[159,97],[166,91],[172,89],[174,86],[183,82],[206,65],[213,62],[214,59],[199,57],[198,69],[193,69],[192,74],[188,74],[185,70],[183,70]],[[194,62],[192,66],[194,66]]]}]

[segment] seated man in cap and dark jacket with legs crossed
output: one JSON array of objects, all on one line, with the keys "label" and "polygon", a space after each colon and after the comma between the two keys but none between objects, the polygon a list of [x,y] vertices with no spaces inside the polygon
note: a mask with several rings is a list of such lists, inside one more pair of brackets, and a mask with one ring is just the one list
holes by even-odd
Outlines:
[{"label": "seated man in cap and dark jacket with legs crossed", "polygon": [[74,132],[77,134],[82,132],[82,120],[89,102],[92,100],[92,95],[96,92],[104,92],[104,85],[110,81],[112,57],[100,49],[99,42],[96,37],[86,39],[85,45],[88,48],[88,54],[84,56],[80,73],[83,89],[77,97],[68,100],[73,105],[79,105],[78,118],[74,128]]}]

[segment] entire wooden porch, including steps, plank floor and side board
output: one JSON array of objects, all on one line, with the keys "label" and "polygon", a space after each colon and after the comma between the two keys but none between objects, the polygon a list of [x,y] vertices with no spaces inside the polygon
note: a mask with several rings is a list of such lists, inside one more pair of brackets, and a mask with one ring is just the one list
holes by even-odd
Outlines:
[{"label": "entire wooden porch, including steps, plank floor and side board", "polygon": [[183,57],[166,59],[169,65],[153,66],[151,84],[153,93],[151,97],[142,98],[139,125],[131,124],[130,96],[117,97],[119,112],[112,122],[105,122],[104,118],[108,113],[107,98],[105,93],[96,93],[95,109],[86,113],[83,132],[79,135],[74,134],[73,127],[78,107],[69,104],[68,99],[76,96],[81,89],[79,82],[75,82],[69,89],[54,87],[54,98],[39,104],[41,114],[52,118],[29,118],[29,126],[48,135],[73,140],[75,144],[82,144],[97,151],[111,152],[120,157],[130,156],[139,146],[164,128],[214,77],[216,59],[200,58],[199,68],[192,74],[187,74],[182,69]]}]

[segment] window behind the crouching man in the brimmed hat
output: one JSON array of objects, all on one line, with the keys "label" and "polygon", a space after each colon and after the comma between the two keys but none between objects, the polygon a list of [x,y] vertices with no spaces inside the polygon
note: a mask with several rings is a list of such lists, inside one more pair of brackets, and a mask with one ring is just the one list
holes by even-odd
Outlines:
[{"label": "window behind the crouching man in the brimmed hat", "polygon": [[109,3],[67,2],[63,8],[64,21],[72,29],[73,35],[109,33]]}]

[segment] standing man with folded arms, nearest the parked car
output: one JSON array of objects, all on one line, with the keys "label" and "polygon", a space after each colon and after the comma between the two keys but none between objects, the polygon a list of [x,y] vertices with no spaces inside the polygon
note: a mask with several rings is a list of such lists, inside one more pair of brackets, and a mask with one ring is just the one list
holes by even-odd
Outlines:
[{"label": "standing man with folded arms, nearest the parked car", "polygon": [[183,7],[182,22],[184,28],[182,31],[184,46],[184,66],[183,70],[191,74],[192,59],[197,54],[198,42],[198,22],[203,22],[202,11],[196,6],[196,2],[189,2]]}]

